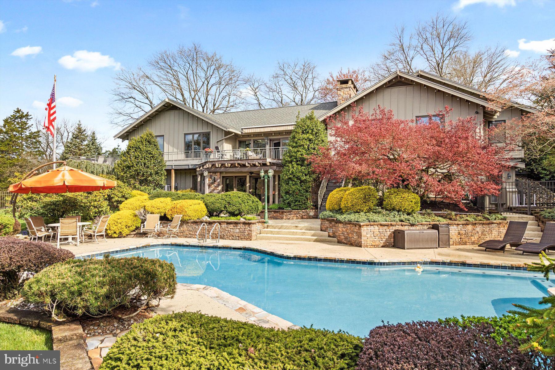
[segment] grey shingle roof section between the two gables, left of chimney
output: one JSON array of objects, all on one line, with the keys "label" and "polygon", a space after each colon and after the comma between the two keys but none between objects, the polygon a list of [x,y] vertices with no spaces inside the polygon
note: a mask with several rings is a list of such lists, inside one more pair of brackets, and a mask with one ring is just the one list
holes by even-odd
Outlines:
[{"label": "grey shingle roof section between the two gables, left of chimney", "polygon": [[266,108],[255,110],[234,111],[230,113],[210,114],[222,123],[235,129],[254,126],[292,125],[295,124],[297,113],[305,116],[314,110],[316,117],[337,107],[337,102],[291,105],[289,107]]}]

